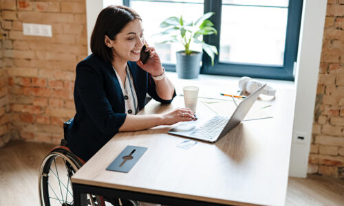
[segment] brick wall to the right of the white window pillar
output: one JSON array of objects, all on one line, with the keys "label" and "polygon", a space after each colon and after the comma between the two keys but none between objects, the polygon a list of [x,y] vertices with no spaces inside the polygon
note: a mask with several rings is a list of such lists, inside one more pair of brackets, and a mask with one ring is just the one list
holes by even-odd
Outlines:
[{"label": "brick wall to the right of the white window pillar", "polygon": [[308,164],[344,176],[344,0],[328,0]]}]

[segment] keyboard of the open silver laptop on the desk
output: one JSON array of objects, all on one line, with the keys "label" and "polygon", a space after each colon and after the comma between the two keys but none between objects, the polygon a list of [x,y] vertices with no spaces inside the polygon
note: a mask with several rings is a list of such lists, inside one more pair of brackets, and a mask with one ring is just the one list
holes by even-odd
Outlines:
[{"label": "keyboard of the open silver laptop on the desk", "polygon": [[224,126],[226,126],[229,117],[216,115],[200,128],[194,130],[190,135],[195,137],[202,137],[205,139],[213,139],[222,132]]}]

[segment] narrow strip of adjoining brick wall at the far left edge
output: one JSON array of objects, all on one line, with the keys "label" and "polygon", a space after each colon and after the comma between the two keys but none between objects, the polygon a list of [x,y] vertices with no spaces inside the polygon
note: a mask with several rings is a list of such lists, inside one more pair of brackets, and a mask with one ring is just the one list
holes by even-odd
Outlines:
[{"label": "narrow strip of adjoining brick wall at the far left edge", "polygon": [[[1,2],[0,2],[1,3]],[[6,23],[0,16],[0,146],[10,141],[10,106],[8,104],[8,76],[3,65],[3,50],[6,47]]]}]

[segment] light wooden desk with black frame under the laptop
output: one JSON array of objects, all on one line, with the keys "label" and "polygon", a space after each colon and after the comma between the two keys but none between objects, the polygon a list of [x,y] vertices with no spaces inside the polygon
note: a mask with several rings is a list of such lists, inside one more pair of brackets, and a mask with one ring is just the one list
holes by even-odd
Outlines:
[{"label": "light wooden desk with black frame under the laptop", "polygon": [[[74,205],[81,193],[168,205],[284,205],[288,183],[294,91],[279,90],[271,119],[242,122],[216,144],[168,135],[172,126],[118,133],[72,176]],[[184,105],[151,101],[140,114]],[[202,104],[197,113],[211,113]],[[128,145],[148,150],[129,173],[107,171]]]}]

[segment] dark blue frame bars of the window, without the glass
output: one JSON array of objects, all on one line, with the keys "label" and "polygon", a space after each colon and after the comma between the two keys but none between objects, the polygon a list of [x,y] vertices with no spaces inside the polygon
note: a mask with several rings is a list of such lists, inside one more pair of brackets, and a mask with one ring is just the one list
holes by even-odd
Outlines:
[{"label": "dark blue frame bars of the window, without the glass", "polygon": [[[123,0],[123,5],[130,6],[130,0]],[[294,81],[293,73],[299,47],[302,7],[303,0],[289,0],[283,66],[219,62],[219,55],[215,56],[214,65],[212,66],[211,58],[208,55],[203,55],[200,73]],[[210,20],[213,21],[214,27],[217,29],[217,35],[203,36],[204,42],[215,45],[219,49],[222,1],[204,0],[204,13],[206,12],[215,12],[215,15],[211,16]],[[175,64],[163,63],[162,65],[166,71],[175,71]]]}]

